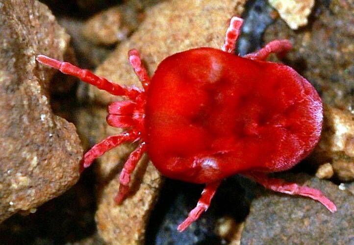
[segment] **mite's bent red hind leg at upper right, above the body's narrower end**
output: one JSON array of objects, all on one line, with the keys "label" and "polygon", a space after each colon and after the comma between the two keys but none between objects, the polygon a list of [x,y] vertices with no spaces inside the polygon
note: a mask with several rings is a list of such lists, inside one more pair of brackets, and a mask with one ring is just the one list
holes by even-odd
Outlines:
[{"label": "mite's bent red hind leg at upper right, above the body's narrower end", "polygon": [[291,49],[291,47],[291,42],[287,39],[274,40],[268,43],[264,48],[249,53],[244,57],[252,60],[265,60],[271,53],[276,53],[278,57],[281,58]]}]

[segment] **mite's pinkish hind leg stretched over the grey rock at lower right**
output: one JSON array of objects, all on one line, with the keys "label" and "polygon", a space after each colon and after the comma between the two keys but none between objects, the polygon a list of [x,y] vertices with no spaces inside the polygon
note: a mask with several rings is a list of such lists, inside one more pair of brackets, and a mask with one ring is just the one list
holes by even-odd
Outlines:
[{"label": "mite's pinkish hind leg stretched over the grey rock at lower right", "polygon": [[321,202],[330,212],[337,211],[337,207],[321,191],[307,186],[299,186],[296,183],[285,182],[282,179],[270,178],[262,172],[247,172],[245,176],[252,178],[267,189],[289,195],[307,196]]}]

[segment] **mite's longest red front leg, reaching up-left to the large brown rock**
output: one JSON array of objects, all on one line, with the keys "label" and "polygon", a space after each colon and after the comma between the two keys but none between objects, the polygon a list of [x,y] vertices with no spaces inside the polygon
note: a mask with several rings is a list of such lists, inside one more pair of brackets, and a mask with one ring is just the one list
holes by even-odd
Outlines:
[{"label": "mite's longest red front leg, reaching up-left to the large brown rock", "polygon": [[91,73],[89,70],[80,69],[68,62],[61,62],[45,55],[38,55],[37,61],[55,68],[64,74],[69,74],[78,77],[84,82],[90,83],[99,89],[105,90],[112,95],[127,96],[130,99],[135,99],[141,94],[141,91],[136,87],[125,87],[117,83],[108,81],[107,79]]}]

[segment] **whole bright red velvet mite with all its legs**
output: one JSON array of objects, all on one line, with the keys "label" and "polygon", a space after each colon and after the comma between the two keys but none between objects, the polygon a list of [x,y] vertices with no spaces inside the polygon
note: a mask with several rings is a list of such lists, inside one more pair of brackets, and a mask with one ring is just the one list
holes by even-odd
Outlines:
[{"label": "whole bright red velvet mite with all its legs", "polygon": [[197,206],[178,230],[205,211],[222,179],[241,173],[265,188],[307,196],[331,212],[336,206],[319,190],[267,177],[292,168],[315,147],[322,129],[322,102],[311,84],[283,64],[264,61],[284,55],[289,40],[275,40],[240,57],[234,54],[242,19],[233,17],[221,50],[189,49],[165,58],[152,78],[139,52],[129,62],[143,88],[125,87],[88,70],[44,55],[37,60],[77,76],[127,100],[108,106],[107,123],[126,128],[92,147],[83,159],[89,167],[97,157],[123,142],[139,141],[120,175],[116,202],[129,191],[130,175],[147,152],[165,176],[205,184]]}]

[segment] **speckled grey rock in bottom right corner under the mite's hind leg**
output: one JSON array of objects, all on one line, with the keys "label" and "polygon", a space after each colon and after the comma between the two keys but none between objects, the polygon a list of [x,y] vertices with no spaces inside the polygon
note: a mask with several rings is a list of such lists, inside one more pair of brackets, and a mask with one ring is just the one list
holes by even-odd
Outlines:
[{"label": "speckled grey rock in bottom right corner under the mite's hind leg", "polygon": [[305,197],[262,190],[251,205],[241,244],[353,244],[354,195],[306,174],[282,174],[321,190],[337,206],[330,213],[322,204]]}]

